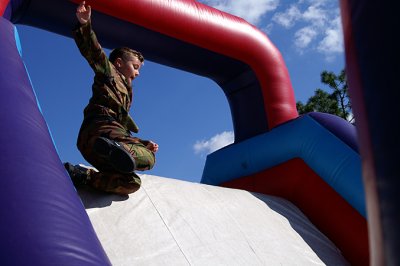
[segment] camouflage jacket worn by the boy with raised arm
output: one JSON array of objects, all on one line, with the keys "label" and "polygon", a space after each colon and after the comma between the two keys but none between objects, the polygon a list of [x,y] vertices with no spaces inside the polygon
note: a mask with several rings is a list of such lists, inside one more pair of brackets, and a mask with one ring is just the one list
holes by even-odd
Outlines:
[{"label": "camouflage jacket worn by the boy with raised arm", "polygon": [[72,34],[81,54],[95,73],[93,95],[84,110],[85,119],[99,115],[110,116],[126,130],[137,133],[139,128],[129,115],[133,97],[132,87],[108,60],[92,30],[91,22],[79,24]]}]

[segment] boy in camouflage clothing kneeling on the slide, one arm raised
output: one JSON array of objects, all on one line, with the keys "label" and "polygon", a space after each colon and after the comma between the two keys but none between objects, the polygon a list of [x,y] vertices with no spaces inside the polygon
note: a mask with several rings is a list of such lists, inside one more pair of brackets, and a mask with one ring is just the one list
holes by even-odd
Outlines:
[{"label": "boy in camouflage clothing kneeling on the slide, one arm raised", "polygon": [[107,58],[91,28],[91,7],[83,1],[77,8],[75,42],[92,67],[93,95],[84,110],[77,146],[83,157],[99,172],[65,163],[75,186],[88,184],[96,189],[127,195],[139,189],[134,170],[154,166],[158,145],[132,137],[138,127],[129,115],[132,81],[139,75],[143,56],[130,48],[113,50]]}]

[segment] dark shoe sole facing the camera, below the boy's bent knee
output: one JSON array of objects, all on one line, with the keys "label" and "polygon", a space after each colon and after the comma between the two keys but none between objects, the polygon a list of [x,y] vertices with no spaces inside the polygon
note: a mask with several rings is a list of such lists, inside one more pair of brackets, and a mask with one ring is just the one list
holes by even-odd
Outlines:
[{"label": "dark shoe sole facing the camera, below the boy's bent knee", "polygon": [[132,155],[114,140],[97,138],[93,145],[93,151],[108,162],[108,166],[122,174],[131,174],[136,168]]}]

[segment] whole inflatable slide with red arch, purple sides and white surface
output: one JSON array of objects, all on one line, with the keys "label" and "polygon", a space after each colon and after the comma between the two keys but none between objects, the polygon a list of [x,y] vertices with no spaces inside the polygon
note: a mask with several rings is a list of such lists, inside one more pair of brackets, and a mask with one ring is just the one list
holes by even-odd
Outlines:
[{"label": "whole inflatable slide with red arch, purple sides and white surface", "polygon": [[[321,261],[330,264],[334,261],[332,265],[339,265],[345,264],[346,260],[352,265],[367,265],[367,215],[374,221],[373,226],[368,225],[373,236],[372,244],[377,247],[372,253],[373,262],[382,265],[379,262],[398,261],[398,256],[393,252],[398,247],[398,238],[395,237],[398,229],[394,230],[394,237],[387,238],[387,234],[381,233],[384,229],[380,227],[379,214],[387,212],[384,207],[379,209],[377,200],[383,200],[379,195],[382,195],[383,187],[388,186],[378,187],[381,194],[376,196],[375,183],[367,183],[368,193],[364,193],[361,165],[364,165],[363,170],[368,180],[379,178],[373,170],[385,168],[382,164],[376,168],[371,167],[374,165],[374,158],[362,164],[359,151],[370,159],[371,149],[368,147],[376,141],[379,142],[377,135],[368,138],[366,132],[372,129],[364,126],[368,124],[365,121],[370,121],[370,118],[365,117],[362,102],[356,103],[356,106],[361,106],[356,107],[356,119],[361,125],[358,134],[362,136],[361,143],[365,144],[359,147],[355,128],[347,122],[321,113],[298,116],[293,88],[279,51],[265,34],[246,21],[191,0],[88,2],[96,16],[94,27],[97,35],[105,47],[135,47],[151,61],[210,78],[221,87],[230,105],[235,142],[208,156],[202,183],[245,189],[249,192],[214,188],[205,184],[193,185],[196,187],[194,189],[192,186],[178,184],[177,189],[181,189],[182,197],[171,203],[176,199],[173,195],[177,191],[168,182],[161,184],[158,178],[148,176],[144,178],[145,184],[139,193],[123,201],[126,206],[119,204],[122,201],[112,199],[110,208],[99,208],[105,207],[98,204],[104,200],[110,201],[110,196],[96,198],[93,196],[94,192],[81,194],[79,197],[57,156],[46,122],[38,108],[28,72],[21,60],[21,45],[14,26],[17,23],[25,24],[70,36],[70,29],[75,23],[73,14],[77,1],[0,0],[0,197],[3,202],[0,208],[0,230],[3,236],[3,265],[132,265],[131,257],[126,257],[124,251],[118,253],[119,249],[113,246],[115,242],[123,246],[121,241],[127,236],[118,240],[106,237],[110,224],[104,224],[102,228],[99,221],[110,220],[96,217],[91,210],[93,205],[90,205],[93,200],[97,204],[96,210],[116,211],[117,214],[114,214],[117,216],[119,212],[128,212],[126,209],[118,209],[118,206],[130,206],[129,211],[134,215],[128,219],[131,227],[143,226],[144,221],[140,221],[140,218],[147,215],[158,215],[162,218],[154,223],[154,226],[161,226],[159,231],[154,231],[157,234],[150,237],[151,230],[148,227],[144,231],[135,228],[132,231],[135,235],[129,238],[129,243],[136,243],[140,247],[141,242],[132,242],[132,239],[143,241],[140,239],[145,236],[138,238],[137,234],[148,233],[147,242],[142,244],[147,245],[146,252],[153,253],[146,253],[140,248],[133,251],[130,249],[132,252],[139,252],[139,255],[133,257],[136,262],[145,265],[152,262],[177,265],[174,264],[176,261],[168,259],[178,257],[182,259],[179,259],[182,263],[178,264],[183,265],[210,265],[213,262],[250,265],[256,258],[260,265],[268,265],[268,261],[289,265],[300,261],[304,265],[310,265],[311,261],[316,264]],[[359,5],[358,1],[342,1],[346,52],[358,49],[358,43],[352,42],[351,31],[363,25],[358,20],[360,16],[360,21],[363,19],[363,13],[357,12],[356,7]],[[133,12],[135,16],[131,15]],[[354,27],[352,23],[355,23]],[[115,31],[117,28],[120,30]],[[129,39],[127,36],[140,38]],[[177,53],[172,55],[171,49],[179,50],[178,56]],[[360,74],[360,62],[355,54],[346,55],[350,72],[354,74],[349,81],[354,86],[354,91],[360,92],[363,84],[360,77],[365,76]],[[366,95],[372,97],[368,93]],[[393,183],[393,179],[382,180],[387,183],[379,184]],[[153,190],[154,193],[150,195],[149,191],[154,187],[151,184],[154,182],[161,185],[159,190]],[[164,194],[163,187],[167,188]],[[179,204],[188,193],[183,193],[185,189],[194,189],[192,194],[198,195],[197,204],[193,204],[196,198],[186,205]],[[218,190],[215,194],[200,193],[214,189]],[[386,189],[390,190],[391,186]],[[395,202],[396,196],[393,195],[389,194],[384,202]],[[215,201],[210,202],[208,196]],[[365,197],[370,203],[368,212]],[[82,206],[82,201],[87,210]],[[232,202],[220,205],[223,208],[219,210],[227,211],[220,211],[220,216],[213,216],[215,209],[209,205],[212,202],[226,201],[236,201],[238,206],[235,207]],[[161,205],[157,207],[157,204]],[[149,211],[143,210],[147,205],[153,207]],[[261,205],[262,209],[259,208]],[[204,210],[188,211],[195,206],[202,206]],[[275,214],[265,216],[270,212],[265,206],[269,209],[275,208]],[[237,208],[238,212],[228,211],[232,208]],[[257,215],[247,213],[253,208],[259,217],[264,218],[259,219]],[[288,214],[288,210],[293,212]],[[104,215],[102,217],[110,215],[107,212],[101,213]],[[139,215],[140,213],[143,215]],[[173,216],[165,219],[172,213]],[[191,217],[193,213],[206,218]],[[248,216],[249,219],[239,219],[238,213]],[[292,226],[284,226],[285,223],[281,220],[277,222],[280,227],[278,230],[269,223],[271,219],[281,219],[279,215],[282,213],[290,223],[293,222],[293,216],[301,219]],[[231,219],[223,219],[224,214],[230,215]],[[382,221],[393,230],[396,217],[398,215],[389,212]],[[111,225],[126,222],[127,220],[121,218]],[[247,226],[244,225],[246,223]],[[308,233],[300,234],[301,230],[294,230],[294,233],[293,228],[300,228],[299,223],[304,225],[301,228],[308,228]],[[125,225],[122,228],[130,226]],[[216,232],[213,230],[218,226],[221,227],[218,234],[211,234],[210,232]],[[165,234],[160,233],[163,230]],[[204,232],[199,233],[199,230]],[[274,230],[278,230],[276,232],[279,232],[281,239],[289,239],[286,242],[275,242],[279,243],[277,245],[285,243],[282,244],[284,248],[260,244],[262,241],[276,241]],[[321,240],[319,245],[315,241],[307,241],[309,238],[304,235],[310,235],[310,232],[316,232],[315,235]],[[234,235],[239,235],[241,244],[232,244],[238,243],[233,241]],[[249,235],[253,237],[249,238]],[[299,238],[299,235],[303,237]],[[164,236],[169,240],[160,242]],[[222,236],[226,237],[224,241],[221,240]],[[374,242],[375,240],[379,241]],[[179,244],[185,241],[193,242]],[[151,246],[149,243],[157,245]],[[240,245],[243,243],[247,243],[247,246],[242,248]],[[183,247],[188,249],[183,250]],[[385,253],[384,247],[388,253]],[[230,260],[224,260],[210,252],[218,248],[226,252],[223,253],[224,258],[232,256]],[[236,259],[235,249],[252,255]],[[269,249],[272,250],[270,253],[264,252]],[[163,250],[176,252],[177,255],[170,253],[169,256],[164,256],[168,252],[163,253]],[[111,262],[107,254],[111,254]],[[158,260],[157,254],[163,254],[163,258]],[[126,260],[121,261],[124,256]],[[278,257],[280,259],[273,260]],[[288,260],[282,261],[282,257]]]}]

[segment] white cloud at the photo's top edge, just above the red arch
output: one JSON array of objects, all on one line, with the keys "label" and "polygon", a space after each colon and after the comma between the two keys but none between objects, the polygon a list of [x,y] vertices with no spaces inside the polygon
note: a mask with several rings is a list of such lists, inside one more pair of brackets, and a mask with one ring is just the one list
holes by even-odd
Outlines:
[{"label": "white cloud at the photo's top edge, just above the red arch", "polygon": [[199,2],[241,17],[251,24],[259,23],[264,14],[275,10],[279,4],[279,0],[202,0]]}]

